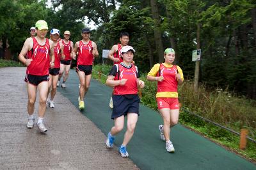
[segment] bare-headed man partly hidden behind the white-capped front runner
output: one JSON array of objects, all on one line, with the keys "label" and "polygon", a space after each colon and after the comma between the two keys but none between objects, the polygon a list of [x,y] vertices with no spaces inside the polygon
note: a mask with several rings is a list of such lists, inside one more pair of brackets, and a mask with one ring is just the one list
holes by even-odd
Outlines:
[{"label": "bare-headed man partly hidden behind the white-capped front runner", "polygon": [[[109,51],[108,54],[108,59],[113,60],[114,64],[120,64],[120,62],[123,61],[121,55],[120,55],[120,50],[122,49],[123,46],[128,45],[129,43],[129,33],[128,32],[121,32],[119,36],[120,44],[113,45],[111,50]],[[132,61],[132,64],[134,64],[134,61]],[[110,98],[109,101],[109,107],[113,108],[113,101],[112,97]]]}]

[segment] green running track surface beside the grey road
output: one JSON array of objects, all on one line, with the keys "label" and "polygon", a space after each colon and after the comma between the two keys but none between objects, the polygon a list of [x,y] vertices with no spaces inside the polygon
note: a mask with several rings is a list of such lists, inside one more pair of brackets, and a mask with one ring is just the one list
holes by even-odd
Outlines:
[{"label": "green running track surface beside the grey road", "polygon": [[[70,70],[66,85],[66,89],[58,88],[58,91],[78,108],[79,80],[74,70]],[[106,135],[113,126],[109,108],[111,93],[111,88],[92,80],[84,99],[85,109],[81,112]],[[168,153],[164,141],[159,138],[158,125],[161,123],[162,119],[156,111],[140,104],[136,130],[127,146],[129,158],[140,169],[256,169],[252,162],[228,152],[179,124],[173,127],[171,134],[175,153]],[[124,132],[125,129],[116,136],[116,146],[122,144]]]}]

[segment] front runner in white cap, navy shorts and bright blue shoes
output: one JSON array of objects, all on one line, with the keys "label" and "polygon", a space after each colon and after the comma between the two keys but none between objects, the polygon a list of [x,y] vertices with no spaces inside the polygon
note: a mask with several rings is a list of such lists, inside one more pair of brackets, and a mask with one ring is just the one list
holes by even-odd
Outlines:
[{"label": "front runner in white cap, navy shorts and bright blue shoes", "polygon": [[127,131],[119,153],[122,157],[128,157],[126,146],[132,138],[139,115],[138,88],[143,88],[144,82],[139,79],[138,68],[131,64],[135,53],[132,46],[123,46],[120,53],[124,60],[112,67],[106,81],[106,85],[114,87],[111,118],[115,121],[115,125],[108,133],[106,145],[113,148],[115,135],[124,128],[124,117],[127,115]]}]

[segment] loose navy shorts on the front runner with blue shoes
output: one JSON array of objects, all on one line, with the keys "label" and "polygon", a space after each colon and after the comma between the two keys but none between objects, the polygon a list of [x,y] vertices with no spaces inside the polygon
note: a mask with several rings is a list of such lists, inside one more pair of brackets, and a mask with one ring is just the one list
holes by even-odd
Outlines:
[{"label": "loose navy shorts on the front runner with blue shoes", "polygon": [[126,116],[127,113],[137,113],[139,114],[140,97],[138,94],[128,94],[128,95],[113,95],[113,112],[111,115],[112,119]]}]

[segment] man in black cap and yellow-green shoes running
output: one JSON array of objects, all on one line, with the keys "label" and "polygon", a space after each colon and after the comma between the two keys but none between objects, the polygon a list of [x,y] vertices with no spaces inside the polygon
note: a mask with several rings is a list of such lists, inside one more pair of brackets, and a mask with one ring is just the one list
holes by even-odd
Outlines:
[{"label": "man in black cap and yellow-green shoes running", "polygon": [[89,89],[90,81],[92,77],[92,62],[93,57],[98,57],[99,52],[97,50],[97,45],[93,41],[90,41],[90,29],[82,29],[83,39],[77,41],[74,48],[74,53],[78,52],[77,57],[77,74],[80,80],[79,87],[79,109],[84,109],[84,96]]}]

